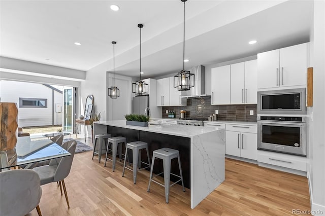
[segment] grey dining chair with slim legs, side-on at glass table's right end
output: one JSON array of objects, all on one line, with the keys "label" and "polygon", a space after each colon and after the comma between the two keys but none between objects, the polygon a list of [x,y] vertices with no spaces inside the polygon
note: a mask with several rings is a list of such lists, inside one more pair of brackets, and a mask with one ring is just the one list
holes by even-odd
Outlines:
[{"label": "grey dining chair with slim legs, side-on at glass table's right end", "polygon": [[64,184],[64,178],[66,178],[70,173],[72,161],[77,147],[77,142],[76,140],[70,140],[64,142],[61,147],[63,149],[66,149],[71,155],[62,157],[59,160],[51,160],[49,165],[35,167],[32,170],[36,171],[39,174],[41,179],[41,185],[45,185],[52,182],[59,182],[59,185],[62,185],[63,187],[68,208],[70,208],[66,184]]}]

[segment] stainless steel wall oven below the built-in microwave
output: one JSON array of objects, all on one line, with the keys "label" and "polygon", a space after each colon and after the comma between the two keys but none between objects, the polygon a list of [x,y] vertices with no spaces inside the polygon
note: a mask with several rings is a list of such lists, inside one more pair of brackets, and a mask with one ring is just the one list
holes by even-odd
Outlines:
[{"label": "stainless steel wall oven below the built-in microwave", "polygon": [[257,115],[257,133],[259,150],[306,156],[306,116]]}]

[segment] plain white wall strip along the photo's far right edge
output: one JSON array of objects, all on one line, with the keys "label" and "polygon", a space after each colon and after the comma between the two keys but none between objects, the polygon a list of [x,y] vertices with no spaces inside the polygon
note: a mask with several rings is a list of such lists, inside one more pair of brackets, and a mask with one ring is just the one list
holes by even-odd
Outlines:
[{"label": "plain white wall strip along the photo's far right edge", "polygon": [[311,210],[321,210],[322,215],[325,215],[325,1],[314,1],[313,20],[311,66],[314,74],[309,182],[312,189]]}]

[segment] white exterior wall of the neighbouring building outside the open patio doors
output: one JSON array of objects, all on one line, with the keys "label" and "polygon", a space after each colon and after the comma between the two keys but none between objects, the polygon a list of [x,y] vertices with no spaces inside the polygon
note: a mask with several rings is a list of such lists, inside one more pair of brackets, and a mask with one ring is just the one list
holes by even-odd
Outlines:
[{"label": "white exterior wall of the neighbouring building outside the open patio doors", "polygon": [[[1,80],[0,97],[2,102],[15,102],[18,106],[18,125],[43,126],[52,125],[53,101],[52,89],[35,83],[15,82]],[[56,92],[55,101],[62,103],[62,94]],[[44,98],[47,99],[47,107],[19,107],[19,98]],[[54,111],[55,112],[55,111]],[[56,115],[56,114],[55,114]],[[56,117],[56,116],[55,116]],[[62,117],[60,118],[60,122]],[[56,122],[55,122],[56,123]]]}]

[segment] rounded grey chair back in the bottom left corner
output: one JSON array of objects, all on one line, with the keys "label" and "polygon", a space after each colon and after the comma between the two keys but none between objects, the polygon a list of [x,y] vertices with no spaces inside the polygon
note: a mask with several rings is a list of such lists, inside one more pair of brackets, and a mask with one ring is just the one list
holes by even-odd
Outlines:
[{"label": "rounded grey chair back in the bottom left corner", "polygon": [[42,189],[39,175],[30,169],[0,172],[0,215],[26,215],[36,208],[42,215],[39,203]]}]

